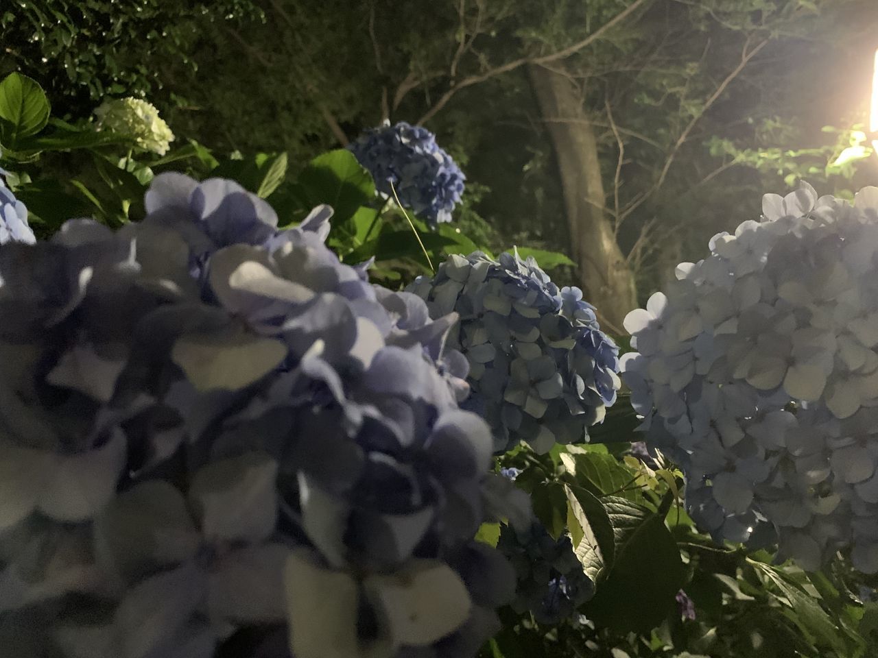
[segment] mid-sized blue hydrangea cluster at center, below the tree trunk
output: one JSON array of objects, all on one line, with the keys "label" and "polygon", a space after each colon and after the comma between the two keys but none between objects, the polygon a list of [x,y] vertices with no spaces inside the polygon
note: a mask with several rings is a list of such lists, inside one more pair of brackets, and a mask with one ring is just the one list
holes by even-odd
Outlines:
[{"label": "mid-sized blue hydrangea cluster at center, below the tree trunk", "polygon": [[469,361],[466,404],[492,426],[496,452],[519,440],[538,453],[587,441],[587,427],[615,402],[619,348],[582,291],[558,290],[532,256],[453,255],[409,290],[433,318],[460,316],[450,346]]}]

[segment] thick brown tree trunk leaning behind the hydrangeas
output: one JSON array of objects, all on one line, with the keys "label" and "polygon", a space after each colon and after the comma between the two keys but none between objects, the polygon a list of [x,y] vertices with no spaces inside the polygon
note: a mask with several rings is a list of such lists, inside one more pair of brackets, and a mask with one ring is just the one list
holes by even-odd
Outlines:
[{"label": "thick brown tree trunk leaning behind the hydrangeas", "polygon": [[594,127],[569,78],[536,66],[529,67],[529,76],[558,160],[581,287],[597,307],[603,328],[624,333],[622,321],[637,307],[637,292],[608,217]]}]

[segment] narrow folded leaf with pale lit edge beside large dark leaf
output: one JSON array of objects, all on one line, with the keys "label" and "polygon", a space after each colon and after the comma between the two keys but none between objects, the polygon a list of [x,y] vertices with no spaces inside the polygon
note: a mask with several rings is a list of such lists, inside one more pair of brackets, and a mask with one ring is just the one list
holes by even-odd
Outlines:
[{"label": "narrow folded leaf with pale lit edge beside large dark leaf", "polygon": [[582,563],[586,576],[596,582],[613,562],[613,524],[601,501],[587,490],[570,485],[565,485],[564,490],[569,511],[572,512],[567,519],[573,553]]}]

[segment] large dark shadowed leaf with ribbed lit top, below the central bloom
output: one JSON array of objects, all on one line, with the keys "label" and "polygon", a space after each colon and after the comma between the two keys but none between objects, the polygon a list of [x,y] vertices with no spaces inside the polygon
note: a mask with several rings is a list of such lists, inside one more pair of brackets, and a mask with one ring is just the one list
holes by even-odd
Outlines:
[{"label": "large dark shadowed leaf with ribbed lit top, below the central bloom", "polygon": [[584,612],[599,626],[644,633],[673,610],[684,579],[680,551],[662,515],[624,498],[602,502],[613,524],[615,558]]}]

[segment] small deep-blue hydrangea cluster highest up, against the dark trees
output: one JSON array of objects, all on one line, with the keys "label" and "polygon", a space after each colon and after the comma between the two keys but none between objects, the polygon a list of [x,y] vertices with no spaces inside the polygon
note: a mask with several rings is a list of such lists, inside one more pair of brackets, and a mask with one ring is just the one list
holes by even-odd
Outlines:
[{"label": "small deep-blue hydrangea cluster highest up, against the dark trees", "polygon": [[432,132],[405,121],[396,125],[387,121],[364,132],[348,148],[369,169],[383,197],[392,199],[396,190],[399,203],[430,224],[451,221],[466,176],[436,144]]}]

